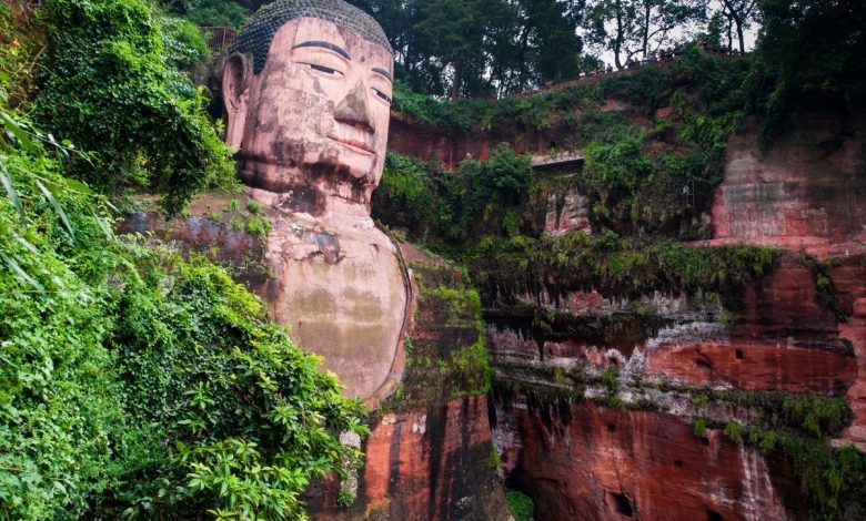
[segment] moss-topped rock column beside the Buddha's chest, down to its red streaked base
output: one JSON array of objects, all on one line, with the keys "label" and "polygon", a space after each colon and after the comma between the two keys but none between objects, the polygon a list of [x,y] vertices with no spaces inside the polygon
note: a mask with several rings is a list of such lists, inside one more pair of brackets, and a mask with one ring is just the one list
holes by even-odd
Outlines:
[{"label": "moss-topped rock column beside the Buddha's chest, down to its red streaked base", "polygon": [[417,308],[401,384],[372,419],[352,508],[311,490],[321,520],[506,520],[487,420],[480,300],[459,270],[402,243]]}]

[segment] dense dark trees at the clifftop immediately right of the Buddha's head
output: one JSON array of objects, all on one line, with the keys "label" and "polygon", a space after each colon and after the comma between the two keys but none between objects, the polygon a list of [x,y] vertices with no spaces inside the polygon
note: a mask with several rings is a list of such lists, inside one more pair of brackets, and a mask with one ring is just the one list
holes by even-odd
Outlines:
[{"label": "dense dark trees at the clifftop immediately right of the Buddha's head", "polygon": [[396,75],[436,96],[495,96],[575,75],[587,61],[582,2],[352,0],[383,27]]}]

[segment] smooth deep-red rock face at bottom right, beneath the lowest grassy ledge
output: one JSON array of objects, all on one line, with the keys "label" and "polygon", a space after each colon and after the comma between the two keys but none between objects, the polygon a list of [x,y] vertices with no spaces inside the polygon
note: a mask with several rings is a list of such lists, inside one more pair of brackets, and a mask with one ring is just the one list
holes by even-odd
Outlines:
[{"label": "smooth deep-red rock face at bottom right, beneath the lowest grassy ledge", "polygon": [[[767,462],[719,432],[653,411],[497,392],[496,442],[538,519],[782,520]],[[512,440],[520,440],[514,443]]]}]

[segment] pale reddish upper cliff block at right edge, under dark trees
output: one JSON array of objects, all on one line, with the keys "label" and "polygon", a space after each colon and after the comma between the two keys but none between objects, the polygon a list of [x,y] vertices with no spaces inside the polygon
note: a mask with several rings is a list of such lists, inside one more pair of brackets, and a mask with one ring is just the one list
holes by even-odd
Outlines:
[{"label": "pale reddish upper cliff block at right edge, under dark trees", "polygon": [[850,255],[866,239],[863,115],[806,108],[766,153],[754,132],[731,137],[713,203],[714,243],[749,241],[818,256]]}]

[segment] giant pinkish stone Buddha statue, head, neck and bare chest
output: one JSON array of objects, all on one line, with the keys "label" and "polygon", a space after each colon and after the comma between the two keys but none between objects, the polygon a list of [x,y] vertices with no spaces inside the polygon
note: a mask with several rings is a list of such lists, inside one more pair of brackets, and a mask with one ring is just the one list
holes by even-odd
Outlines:
[{"label": "giant pinkish stone Buddha statue, head, neck and bare chest", "polygon": [[410,298],[396,247],[370,217],[392,74],[387,39],[361,10],[278,0],[230,47],[222,78],[239,175],[275,215],[272,317],[367,401],[393,384]]}]

